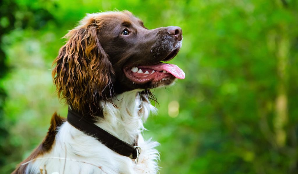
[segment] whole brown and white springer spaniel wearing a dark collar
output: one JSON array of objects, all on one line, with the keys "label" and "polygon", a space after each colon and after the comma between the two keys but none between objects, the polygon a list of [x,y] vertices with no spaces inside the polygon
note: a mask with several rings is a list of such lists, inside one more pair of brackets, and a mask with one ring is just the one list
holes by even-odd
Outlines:
[{"label": "whole brown and white springer spaniel wearing a dark collar", "polygon": [[54,113],[43,142],[13,173],[157,173],[158,143],[141,132],[155,112],[150,89],[185,77],[161,62],[181,48],[181,28],[148,30],[131,12],[101,12],[65,37],[52,76],[67,121]]}]

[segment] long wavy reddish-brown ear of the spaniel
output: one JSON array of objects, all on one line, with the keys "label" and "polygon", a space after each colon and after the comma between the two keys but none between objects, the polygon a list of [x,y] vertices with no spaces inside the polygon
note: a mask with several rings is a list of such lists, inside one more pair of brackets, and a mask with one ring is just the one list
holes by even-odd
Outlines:
[{"label": "long wavy reddish-brown ear of the spaniel", "polygon": [[[100,100],[111,97],[111,62],[99,39],[99,27],[91,18],[66,34],[68,41],[53,62],[52,77],[59,99],[77,111],[96,113]],[[89,108],[88,108],[89,107]]]}]

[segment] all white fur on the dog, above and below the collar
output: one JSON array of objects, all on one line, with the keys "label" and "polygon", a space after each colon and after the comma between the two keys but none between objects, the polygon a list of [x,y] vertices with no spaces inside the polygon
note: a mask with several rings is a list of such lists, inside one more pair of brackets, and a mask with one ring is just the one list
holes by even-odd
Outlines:
[{"label": "all white fur on the dog, above and below the collar", "polygon": [[129,91],[117,96],[114,107],[111,103],[103,103],[103,118],[96,125],[115,137],[133,144],[136,135],[139,135],[138,144],[142,149],[139,162],[117,154],[94,137],[65,122],[58,129],[52,150],[31,162],[27,173],[40,173],[40,167],[48,174],[139,174],[156,173],[159,153],[154,147],[157,142],[144,141],[141,132],[144,130],[143,121],[146,121],[150,111],[155,112],[148,99],[139,94],[139,91]]}]

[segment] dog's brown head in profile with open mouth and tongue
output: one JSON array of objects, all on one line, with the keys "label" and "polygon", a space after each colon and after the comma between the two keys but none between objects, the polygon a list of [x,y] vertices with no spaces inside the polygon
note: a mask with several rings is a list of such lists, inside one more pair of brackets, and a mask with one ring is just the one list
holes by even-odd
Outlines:
[{"label": "dog's brown head in profile with open mouth and tongue", "polygon": [[88,14],[66,38],[52,76],[58,96],[75,110],[96,113],[101,100],[185,77],[176,65],[161,62],[178,53],[180,27],[148,30],[131,12],[103,12]]}]

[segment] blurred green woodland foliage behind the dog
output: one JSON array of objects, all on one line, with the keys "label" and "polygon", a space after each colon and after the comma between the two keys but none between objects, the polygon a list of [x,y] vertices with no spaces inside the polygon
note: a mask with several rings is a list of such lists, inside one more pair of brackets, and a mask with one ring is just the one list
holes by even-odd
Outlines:
[{"label": "blurred green woodland foliage behind the dog", "polygon": [[295,0],[2,0],[0,173],[10,173],[66,116],[52,85],[60,39],[86,13],[129,10],[149,29],[180,26],[171,62],[186,73],[155,89],[145,137],[160,173],[298,173],[298,2]]}]

